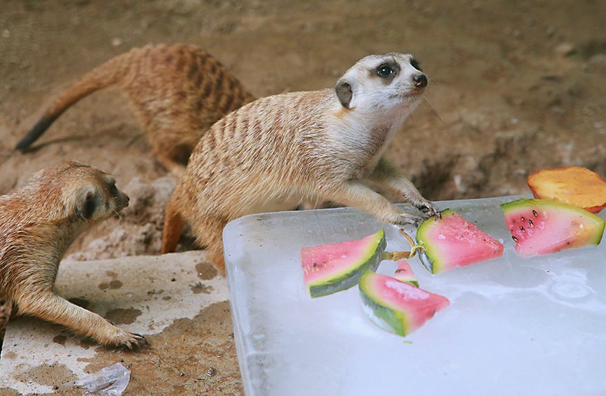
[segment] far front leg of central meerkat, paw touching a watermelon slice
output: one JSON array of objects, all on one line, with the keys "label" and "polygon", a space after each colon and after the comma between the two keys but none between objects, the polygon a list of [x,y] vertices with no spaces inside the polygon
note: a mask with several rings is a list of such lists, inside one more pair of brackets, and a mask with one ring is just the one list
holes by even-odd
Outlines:
[{"label": "far front leg of central meerkat, paw touching a watermelon slice", "polygon": [[390,189],[404,197],[407,203],[410,203],[421,212],[428,216],[436,215],[440,217],[440,210],[430,201],[421,196],[417,187],[400,173],[393,163],[387,161],[384,157],[379,159],[377,166],[373,169],[366,179],[369,184],[380,186],[384,189]]}]

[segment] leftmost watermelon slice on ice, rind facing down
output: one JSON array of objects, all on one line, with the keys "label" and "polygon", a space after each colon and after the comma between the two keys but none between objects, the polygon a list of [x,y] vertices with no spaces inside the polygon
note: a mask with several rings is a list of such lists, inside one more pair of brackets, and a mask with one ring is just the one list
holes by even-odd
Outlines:
[{"label": "leftmost watermelon slice on ice, rind facing down", "polygon": [[379,230],[357,241],[301,249],[305,286],[312,298],[357,284],[366,269],[376,270],[379,267],[385,247],[385,233]]}]

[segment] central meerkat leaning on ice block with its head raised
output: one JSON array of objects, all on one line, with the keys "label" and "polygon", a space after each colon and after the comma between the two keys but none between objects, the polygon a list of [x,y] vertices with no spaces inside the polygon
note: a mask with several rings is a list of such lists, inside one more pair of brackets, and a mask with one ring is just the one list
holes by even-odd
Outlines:
[{"label": "central meerkat leaning on ice block with its head raised", "polygon": [[[203,135],[171,196],[161,252],[175,250],[187,222],[224,273],[226,223],[302,202],[332,201],[396,224],[439,216],[382,156],[426,85],[411,55],[370,55],[334,89],[268,96],[226,115]],[[398,210],[370,186],[394,191],[421,213]]]}]

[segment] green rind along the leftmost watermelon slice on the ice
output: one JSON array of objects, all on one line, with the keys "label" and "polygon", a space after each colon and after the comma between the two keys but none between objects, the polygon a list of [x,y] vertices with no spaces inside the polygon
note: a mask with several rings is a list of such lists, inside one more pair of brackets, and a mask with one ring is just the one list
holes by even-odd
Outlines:
[{"label": "green rind along the leftmost watermelon slice on the ice", "polygon": [[366,270],[377,270],[382,258],[383,252],[387,248],[384,230],[377,232],[377,247],[373,249],[370,256],[363,256],[354,265],[349,266],[347,272],[341,272],[338,277],[325,279],[319,284],[308,284],[308,291],[312,298],[323,297],[337,293],[338,291],[347,290],[359,283],[362,274]]}]

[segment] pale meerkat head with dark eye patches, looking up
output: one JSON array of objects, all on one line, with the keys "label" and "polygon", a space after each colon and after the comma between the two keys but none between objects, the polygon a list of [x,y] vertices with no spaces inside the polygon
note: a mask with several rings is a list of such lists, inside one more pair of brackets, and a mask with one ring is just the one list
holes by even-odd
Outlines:
[{"label": "pale meerkat head with dark eye patches, looking up", "polygon": [[344,108],[412,111],[419,105],[427,77],[410,54],[369,55],[349,68],[335,90]]}]

